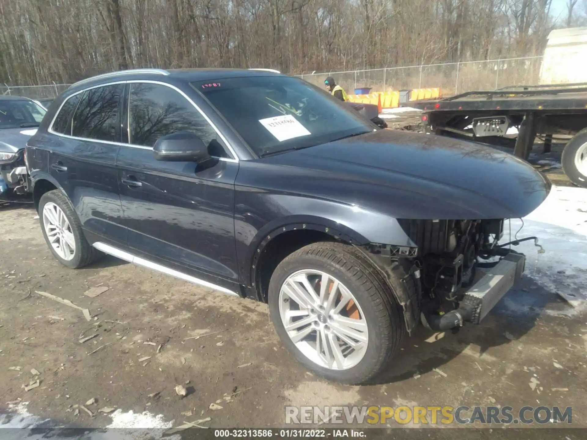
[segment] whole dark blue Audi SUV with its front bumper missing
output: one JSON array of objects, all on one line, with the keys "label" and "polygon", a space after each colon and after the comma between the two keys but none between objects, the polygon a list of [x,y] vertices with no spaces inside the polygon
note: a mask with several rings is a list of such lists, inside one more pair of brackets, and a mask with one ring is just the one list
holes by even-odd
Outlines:
[{"label": "whole dark blue Audi SUV with its front bumper missing", "polygon": [[510,154],[378,128],[298,78],[237,69],[82,80],[26,158],[64,266],[106,253],[268,303],[290,353],[348,384],[406,361],[420,323],[479,324],[524,271],[504,219],[551,189]]}]

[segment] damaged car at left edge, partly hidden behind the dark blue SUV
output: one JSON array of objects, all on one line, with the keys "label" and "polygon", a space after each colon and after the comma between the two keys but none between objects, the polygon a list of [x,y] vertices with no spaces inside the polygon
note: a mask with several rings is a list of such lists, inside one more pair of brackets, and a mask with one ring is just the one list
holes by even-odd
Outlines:
[{"label": "damaged car at left edge, partly hidden behind the dark blue SUV", "polygon": [[0,96],[0,201],[28,201],[26,141],[36,133],[46,111],[32,99]]}]

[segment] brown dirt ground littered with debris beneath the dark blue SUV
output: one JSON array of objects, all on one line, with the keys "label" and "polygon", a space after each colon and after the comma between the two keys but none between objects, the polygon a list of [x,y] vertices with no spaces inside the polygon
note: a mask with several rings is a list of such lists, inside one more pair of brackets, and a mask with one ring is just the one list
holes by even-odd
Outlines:
[{"label": "brown dirt ground littered with debris beneath the dark blue SUV", "polygon": [[[585,317],[531,277],[481,326],[420,329],[379,384],[349,387],[292,360],[264,304],[109,257],[67,269],[35,216],[30,207],[0,208],[0,413],[22,400],[29,413],[70,426],[106,427],[112,417],[96,411],[111,407],[174,426],[210,417],[211,427],[281,427],[286,405],[559,405],[573,408],[574,426],[587,426]],[[83,295],[95,286],[108,290]],[[89,309],[92,320],[36,291]],[[36,378],[39,387],[22,388]],[[174,390],[181,384],[187,397]],[[97,415],[76,415],[72,405],[91,398]]]}]

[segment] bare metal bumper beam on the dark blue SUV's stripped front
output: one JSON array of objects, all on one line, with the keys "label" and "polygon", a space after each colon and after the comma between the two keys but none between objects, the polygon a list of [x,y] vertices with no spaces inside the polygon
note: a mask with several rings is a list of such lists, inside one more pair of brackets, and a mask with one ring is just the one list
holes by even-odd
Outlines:
[{"label": "bare metal bumper beam on the dark blue SUV's stripped front", "polygon": [[522,253],[507,253],[465,292],[458,309],[443,315],[422,314],[421,320],[431,330],[449,330],[463,323],[479,324],[495,304],[521,279],[526,257]]}]

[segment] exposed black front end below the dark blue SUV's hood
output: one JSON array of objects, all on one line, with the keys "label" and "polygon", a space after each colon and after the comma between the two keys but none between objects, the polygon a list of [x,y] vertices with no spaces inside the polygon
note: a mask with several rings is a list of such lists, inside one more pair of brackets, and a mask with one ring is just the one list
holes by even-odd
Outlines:
[{"label": "exposed black front end below the dark blue SUV's hood", "polygon": [[431,330],[479,324],[521,279],[525,255],[507,246],[534,239],[539,252],[544,252],[536,237],[498,244],[504,219],[400,220],[400,224],[417,245],[410,276],[420,320]]}]

